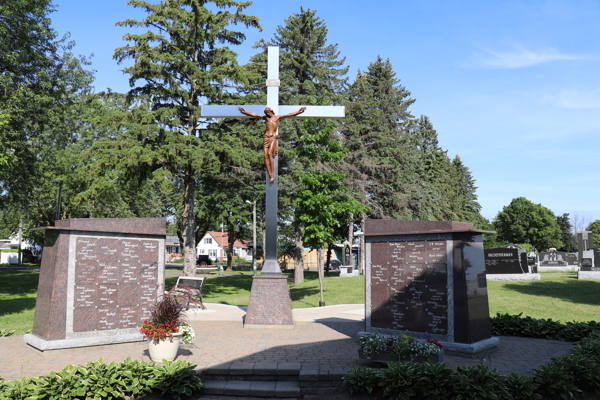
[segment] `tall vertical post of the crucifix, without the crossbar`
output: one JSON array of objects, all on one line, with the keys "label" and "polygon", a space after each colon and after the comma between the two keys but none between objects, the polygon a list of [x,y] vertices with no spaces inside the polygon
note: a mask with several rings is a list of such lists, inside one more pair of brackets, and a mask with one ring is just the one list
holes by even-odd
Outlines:
[{"label": "tall vertical post of the crucifix, without the crossbar", "polygon": [[[267,69],[267,107],[271,107],[279,115],[279,47],[269,46]],[[279,128],[277,128],[279,134]],[[269,175],[265,170],[265,243],[262,275],[279,275],[281,268],[277,262],[277,202],[279,183],[279,154],[273,160],[275,182],[269,183]]]}]

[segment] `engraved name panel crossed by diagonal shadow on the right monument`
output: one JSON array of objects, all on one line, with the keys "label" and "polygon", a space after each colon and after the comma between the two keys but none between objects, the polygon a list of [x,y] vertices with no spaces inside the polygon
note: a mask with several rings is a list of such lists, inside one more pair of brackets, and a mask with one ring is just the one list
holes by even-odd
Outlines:
[{"label": "engraved name panel crossed by diagonal shadow on the right monument", "polygon": [[371,244],[371,324],[448,333],[445,241]]}]

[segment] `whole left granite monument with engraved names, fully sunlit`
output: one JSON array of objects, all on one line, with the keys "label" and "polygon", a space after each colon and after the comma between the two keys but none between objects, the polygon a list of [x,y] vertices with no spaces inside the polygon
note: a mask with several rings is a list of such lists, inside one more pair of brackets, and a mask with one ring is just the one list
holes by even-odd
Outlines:
[{"label": "whole left granite monument with engraved names, fully sunlit", "polygon": [[164,283],[163,218],[56,221],[45,230],[31,334],[39,350],[143,340]]}]

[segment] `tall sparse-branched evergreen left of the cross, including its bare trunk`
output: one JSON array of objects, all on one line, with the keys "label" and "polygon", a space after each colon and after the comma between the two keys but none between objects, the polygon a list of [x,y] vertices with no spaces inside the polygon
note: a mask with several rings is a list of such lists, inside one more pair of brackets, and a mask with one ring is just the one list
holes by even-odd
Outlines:
[{"label": "tall sparse-branched evergreen left of the cross, including its bare trunk", "polygon": [[[144,153],[145,160],[134,163],[136,168],[160,169],[182,181],[184,271],[191,275],[195,273],[196,258],[196,173],[218,170],[215,150],[227,147],[230,134],[199,129],[200,102],[222,102],[230,96],[228,86],[248,83],[248,72],[237,63],[236,54],[217,45],[239,45],[245,39],[243,33],[230,30],[230,24],[259,29],[260,25],[257,17],[243,14],[250,2],[167,0],[151,4],[130,0],[127,4],[148,16],[117,25],[149,30],[125,35],[124,40],[130,44],[116,49],[114,58],[119,63],[133,59],[133,65],[124,69],[133,87],[129,94],[150,98],[151,108],[140,122],[159,127],[153,135],[144,137],[146,143],[127,151],[130,155]],[[220,11],[213,12],[206,4]],[[136,86],[138,82],[141,85]]]}]

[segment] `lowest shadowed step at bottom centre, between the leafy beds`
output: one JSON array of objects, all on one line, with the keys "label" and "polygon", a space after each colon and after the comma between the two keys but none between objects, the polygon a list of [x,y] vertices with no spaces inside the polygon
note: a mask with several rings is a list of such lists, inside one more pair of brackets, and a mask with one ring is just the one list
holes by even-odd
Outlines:
[{"label": "lowest shadowed step at bottom centre, between the leafy beds", "polygon": [[300,382],[204,381],[202,396],[221,395],[250,398],[298,398]]}]

